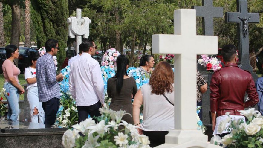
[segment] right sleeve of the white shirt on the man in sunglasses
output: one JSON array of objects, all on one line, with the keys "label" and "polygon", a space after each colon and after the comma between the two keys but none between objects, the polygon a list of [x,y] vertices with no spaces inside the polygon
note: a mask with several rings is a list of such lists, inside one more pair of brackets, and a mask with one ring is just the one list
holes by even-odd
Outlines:
[{"label": "right sleeve of the white shirt on the man in sunglasses", "polygon": [[100,99],[100,103],[104,104],[104,83],[100,71],[100,65],[98,62],[96,62],[92,70],[92,81],[94,83],[96,93]]}]

